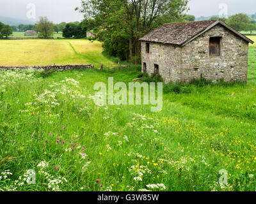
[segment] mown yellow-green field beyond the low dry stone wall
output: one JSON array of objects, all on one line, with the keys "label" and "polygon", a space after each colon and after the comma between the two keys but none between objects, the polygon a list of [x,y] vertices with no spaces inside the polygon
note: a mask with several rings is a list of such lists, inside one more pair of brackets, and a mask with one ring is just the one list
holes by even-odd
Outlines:
[{"label": "mown yellow-green field beyond the low dry stone wall", "polygon": [[1,40],[2,66],[45,66],[51,64],[113,64],[99,41],[88,40]]}]

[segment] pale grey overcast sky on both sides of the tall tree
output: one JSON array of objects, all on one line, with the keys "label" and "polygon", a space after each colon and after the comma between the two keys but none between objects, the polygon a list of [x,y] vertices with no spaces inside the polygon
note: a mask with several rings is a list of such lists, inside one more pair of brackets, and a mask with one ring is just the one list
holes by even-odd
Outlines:
[{"label": "pale grey overcast sky on both sides of the tall tree", "polygon": [[[36,20],[40,16],[47,16],[49,20],[58,22],[74,22],[82,20],[83,15],[74,8],[80,5],[81,0],[0,0],[0,15],[4,17],[22,18]],[[33,12],[33,5],[35,12]],[[220,7],[222,4],[222,7]],[[224,7],[223,7],[224,4]],[[225,6],[227,5],[227,6]],[[28,8],[27,8],[28,6]],[[190,0],[189,14],[196,17],[218,15],[223,10],[227,15],[234,13],[256,13],[255,0]]]}]

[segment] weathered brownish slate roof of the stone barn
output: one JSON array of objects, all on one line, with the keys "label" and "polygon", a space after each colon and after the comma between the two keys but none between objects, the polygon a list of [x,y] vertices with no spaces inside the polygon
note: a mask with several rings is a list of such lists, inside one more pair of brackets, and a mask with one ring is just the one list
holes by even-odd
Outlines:
[{"label": "weathered brownish slate roof of the stone barn", "polygon": [[252,40],[237,32],[235,29],[232,29],[232,27],[225,24],[225,22],[222,22],[221,20],[203,20],[196,22],[163,24],[161,27],[158,27],[154,31],[140,38],[140,40],[184,46],[217,24],[223,25],[244,40],[248,41],[249,43],[253,43]]}]

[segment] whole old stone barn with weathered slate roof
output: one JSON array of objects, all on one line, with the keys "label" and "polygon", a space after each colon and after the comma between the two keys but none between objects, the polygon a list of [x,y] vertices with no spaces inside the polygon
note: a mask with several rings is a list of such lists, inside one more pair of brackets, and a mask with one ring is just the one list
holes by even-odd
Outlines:
[{"label": "whole old stone barn with weathered slate roof", "polygon": [[247,81],[253,41],[221,20],[164,24],[140,41],[143,73],[159,73],[164,82]]}]

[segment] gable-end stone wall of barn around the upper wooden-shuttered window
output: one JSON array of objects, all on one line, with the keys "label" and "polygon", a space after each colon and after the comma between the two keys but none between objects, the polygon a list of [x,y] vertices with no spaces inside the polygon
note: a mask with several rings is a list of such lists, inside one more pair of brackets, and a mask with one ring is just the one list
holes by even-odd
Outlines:
[{"label": "gable-end stone wall of barn around the upper wooden-shuttered window", "polygon": [[[221,37],[220,56],[209,56],[210,37]],[[220,24],[182,47],[181,56],[182,82],[200,77],[213,82],[247,81],[248,42]]]}]

